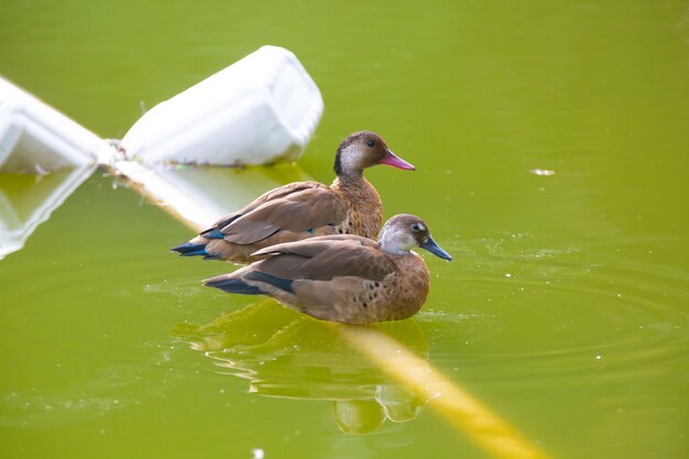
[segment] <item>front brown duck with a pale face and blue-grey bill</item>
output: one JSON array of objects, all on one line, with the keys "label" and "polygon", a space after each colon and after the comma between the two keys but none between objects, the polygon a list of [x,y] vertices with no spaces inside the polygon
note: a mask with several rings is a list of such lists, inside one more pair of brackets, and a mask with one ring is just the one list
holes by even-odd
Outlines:
[{"label": "front brown duck with a pale face and blue-grey bill", "polygon": [[372,324],[414,316],[426,302],[429,271],[413,251],[450,261],[419,217],[400,214],[376,241],[356,234],[320,236],[263,248],[259,261],[204,281],[227,293],[267,295],[317,319]]}]

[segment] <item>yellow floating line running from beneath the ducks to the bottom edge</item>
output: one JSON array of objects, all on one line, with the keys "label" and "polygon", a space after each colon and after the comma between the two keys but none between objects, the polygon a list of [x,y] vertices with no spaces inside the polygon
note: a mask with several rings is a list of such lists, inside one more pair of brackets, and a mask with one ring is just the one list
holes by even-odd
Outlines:
[{"label": "yellow floating line running from beneath the ducks to the bottom edge", "polygon": [[505,459],[547,458],[514,427],[394,338],[373,327],[337,324],[332,327],[384,372],[428,398],[441,416],[493,456]]}]

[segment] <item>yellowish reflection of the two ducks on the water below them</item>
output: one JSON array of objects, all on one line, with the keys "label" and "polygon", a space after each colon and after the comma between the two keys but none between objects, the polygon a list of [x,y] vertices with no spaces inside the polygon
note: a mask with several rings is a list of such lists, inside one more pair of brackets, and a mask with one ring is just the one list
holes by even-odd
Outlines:
[{"label": "yellowish reflection of the two ducks on the water below them", "polygon": [[[370,434],[386,420],[417,418],[428,400],[383,373],[343,341],[337,327],[363,328],[318,321],[264,300],[208,325],[176,325],[172,334],[226,374],[248,380],[251,393],[330,402],[335,423],[346,434]],[[427,340],[414,320],[365,328],[427,359]]]}]

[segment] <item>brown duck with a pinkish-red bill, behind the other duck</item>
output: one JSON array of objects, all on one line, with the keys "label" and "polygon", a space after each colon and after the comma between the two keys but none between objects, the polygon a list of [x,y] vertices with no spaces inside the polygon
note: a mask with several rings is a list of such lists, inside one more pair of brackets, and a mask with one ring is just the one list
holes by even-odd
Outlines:
[{"label": "brown duck with a pinkish-red bill, behind the other duck", "polygon": [[330,234],[373,239],[383,221],[383,205],[363,170],[379,164],[415,170],[379,134],[354,132],[337,149],[336,177],[329,186],[311,181],[272,189],[171,250],[183,256],[247,264],[255,261],[252,253],[278,243]]}]

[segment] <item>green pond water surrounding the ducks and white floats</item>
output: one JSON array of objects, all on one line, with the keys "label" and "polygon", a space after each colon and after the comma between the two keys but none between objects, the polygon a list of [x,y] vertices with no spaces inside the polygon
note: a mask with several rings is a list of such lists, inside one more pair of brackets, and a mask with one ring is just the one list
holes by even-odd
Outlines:
[{"label": "green pond water surrounding the ducks and white floats", "polygon": [[[194,172],[248,184],[229,208],[379,132],[417,166],[367,172],[385,217],[455,256],[380,332],[545,457],[689,456],[686,1],[0,3],[0,74],[103,138],[263,44],[326,111],[296,165]],[[203,287],[233,267],[171,254],[193,232],[122,185],[0,261],[0,457],[495,457],[337,329]]]}]

